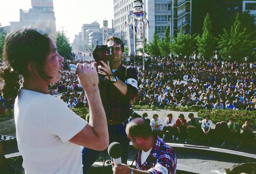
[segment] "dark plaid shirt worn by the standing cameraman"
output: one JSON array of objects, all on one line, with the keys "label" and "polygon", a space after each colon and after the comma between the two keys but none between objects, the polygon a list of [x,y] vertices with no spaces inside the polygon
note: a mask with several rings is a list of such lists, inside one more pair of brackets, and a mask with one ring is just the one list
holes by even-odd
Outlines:
[{"label": "dark plaid shirt worn by the standing cameraman", "polygon": [[[134,67],[120,65],[113,74],[124,83],[126,83],[127,79],[135,79],[138,81],[138,73]],[[138,89],[130,84],[126,84],[126,86],[127,93],[124,96],[115,85],[109,83],[108,80],[99,83],[100,97],[107,120],[120,122],[126,122],[128,120],[130,100],[135,98]]]}]

